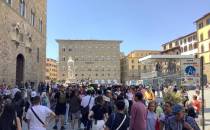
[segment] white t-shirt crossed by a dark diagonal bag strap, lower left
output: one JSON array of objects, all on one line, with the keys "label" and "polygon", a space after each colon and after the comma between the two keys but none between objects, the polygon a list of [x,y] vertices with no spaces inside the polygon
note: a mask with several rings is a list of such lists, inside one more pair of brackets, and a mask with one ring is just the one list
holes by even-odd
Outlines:
[{"label": "white t-shirt crossed by a dark diagonal bag strap, lower left", "polygon": [[[45,106],[37,105],[33,106],[32,108],[43,122],[45,122],[46,118],[50,116],[50,113],[52,113],[52,111]],[[46,130],[46,128],[43,127],[42,123],[36,118],[31,109],[28,109],[26,113],[26,119],[30,120],[30,130]]]}]

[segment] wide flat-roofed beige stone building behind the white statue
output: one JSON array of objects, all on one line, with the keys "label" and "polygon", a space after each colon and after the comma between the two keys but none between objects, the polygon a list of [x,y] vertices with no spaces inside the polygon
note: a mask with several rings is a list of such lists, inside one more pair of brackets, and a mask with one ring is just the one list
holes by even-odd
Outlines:
[{"label": "wide flat-roofed beige stone building behind the white statue", "polygon": [[120,82],[120,43],[109,40],[57,40],[59,43],[59,80],[67,80],[67,62],[74,61],[76,82]]}]

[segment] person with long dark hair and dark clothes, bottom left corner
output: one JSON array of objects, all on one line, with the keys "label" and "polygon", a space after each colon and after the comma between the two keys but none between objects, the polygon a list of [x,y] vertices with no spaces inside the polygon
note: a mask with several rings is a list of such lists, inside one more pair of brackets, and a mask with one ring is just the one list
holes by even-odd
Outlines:
[{"label": "person with long dark hair and dark clothes, bottom left corner", "polygon": [[14,105],[12,105],[11,100],[8,99],[0,116],[0,130],[22,130],[20,118],[17,117]]}]

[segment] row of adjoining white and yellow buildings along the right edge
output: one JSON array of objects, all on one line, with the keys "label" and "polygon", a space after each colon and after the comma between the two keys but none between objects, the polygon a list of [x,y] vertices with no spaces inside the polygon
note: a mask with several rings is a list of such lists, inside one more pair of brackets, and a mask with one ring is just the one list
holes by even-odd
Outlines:
[{"label": "row of adjoining white and yellow buildings along the right edge", "polygon": [[[195,21],[196,31],[162,45],[162,54],[194,55],[204,58],[204,74],[210,83],[210,13]],[[180,51],[180,52],[179,52]]]}]

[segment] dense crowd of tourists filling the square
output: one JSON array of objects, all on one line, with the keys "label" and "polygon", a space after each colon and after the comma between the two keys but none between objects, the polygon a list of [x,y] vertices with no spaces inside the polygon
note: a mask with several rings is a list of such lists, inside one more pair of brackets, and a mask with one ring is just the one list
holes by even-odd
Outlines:
[{"label": "dense crowd of tourists filling the square", "polygon": [[[169,91],[170,90],[170,91]],[[39,84],[0,86],[0,130],[200,130],[200,91],[178,87]],[[173,100],[167,94],[179,94]],[[163,98],[165,96],[166,98]],[[69,125],[69,126],[68,126]],[[53,128],[52,128],[53,127]]]}]

